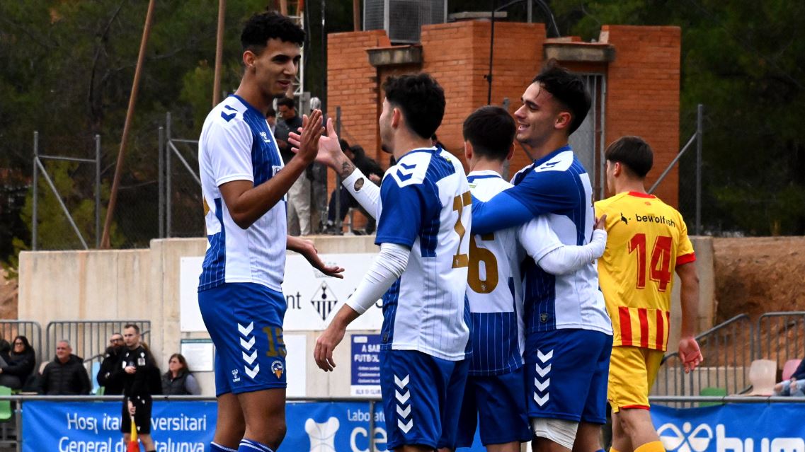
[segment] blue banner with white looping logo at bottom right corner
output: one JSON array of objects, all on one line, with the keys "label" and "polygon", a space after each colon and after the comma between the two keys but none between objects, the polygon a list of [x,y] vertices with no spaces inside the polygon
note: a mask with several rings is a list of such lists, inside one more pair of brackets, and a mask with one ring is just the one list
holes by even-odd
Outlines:
[{"label": "blue banner with white looping logo at bottom right corner", "polygon": [[805,452],[805,405],[733,404],[672,409],[651,405],[668,452]]}]

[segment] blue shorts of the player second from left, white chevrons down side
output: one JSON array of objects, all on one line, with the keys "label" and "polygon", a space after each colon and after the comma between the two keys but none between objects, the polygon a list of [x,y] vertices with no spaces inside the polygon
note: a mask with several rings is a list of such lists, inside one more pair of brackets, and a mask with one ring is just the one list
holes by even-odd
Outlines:
[{"label": "blue shorts of the player second from left, white chevrons down side", "polygon": [[388,450],[407,445],[456,448],[468,368],[468,360],[442,360],[421,351],[380,351]]}]

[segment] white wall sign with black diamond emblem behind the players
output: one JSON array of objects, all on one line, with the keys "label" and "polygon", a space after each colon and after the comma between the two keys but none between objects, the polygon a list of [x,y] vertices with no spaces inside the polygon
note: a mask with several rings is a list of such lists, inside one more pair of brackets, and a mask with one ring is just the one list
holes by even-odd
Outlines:
[{"label": "white wall sign with black diamond emblem behind the players", "polygon": [[[322,254],[328,265],[345,268],[344,279],[325,276],[313,269],[304,257],[289,254],[285,262],[283,294],[287,301],[285,331],[324,330],[328,317],[335,314],[355,291],[369,269],[374,253]],[[198,307],[198,281],[204,257],[182,257],[180,276],[181,331],[207,331]],[[349,325],[349,330],[380,330],[383,322],[381,301]]]}]

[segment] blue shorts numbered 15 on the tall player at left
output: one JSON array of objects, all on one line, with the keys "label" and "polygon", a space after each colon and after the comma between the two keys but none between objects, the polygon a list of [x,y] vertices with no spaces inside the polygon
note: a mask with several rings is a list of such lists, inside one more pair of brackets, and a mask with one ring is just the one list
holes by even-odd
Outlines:
[{"label": "blue shorts numbered 15 on the tall player at left", "polygon": [[254,283],[199,292],[204,325],[215,344],[215,394],[287,387],[282,293]]}]

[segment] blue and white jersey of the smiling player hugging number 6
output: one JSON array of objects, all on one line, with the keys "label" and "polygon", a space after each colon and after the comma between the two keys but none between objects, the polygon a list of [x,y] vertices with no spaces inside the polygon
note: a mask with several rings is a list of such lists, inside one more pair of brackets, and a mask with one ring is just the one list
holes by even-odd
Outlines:
[{"label": "blue and white jersey of the smiling player hugging number 6", "polygon": [[[589,242],[595,222],[592,187],[570,146],[526,166],[514,175],[513,183],[506,195],[532,215],[547,216],[562,243]],[[562,276],[545,272],[529,259],[521,270],[525,274],[526,332],[577,328],[612,334],[594,262]]]}]

